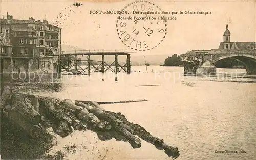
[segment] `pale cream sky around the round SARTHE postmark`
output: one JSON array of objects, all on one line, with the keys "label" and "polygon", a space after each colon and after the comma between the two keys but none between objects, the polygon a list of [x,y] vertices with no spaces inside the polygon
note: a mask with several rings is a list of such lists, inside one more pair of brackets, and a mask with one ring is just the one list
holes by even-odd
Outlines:
[{"label": "pale cream sky around the round SARTHE postmark", "polygon": [[[256,41],[256,1],[151,1],[164,11],[210,11],[210,15],[176,15],[167,22],[164,40],[148,51],[135,51],[118,38],[118,15],[90,14],[90,10],[121,10],[133,1],[4,1],[0,0],[0,16],[7,12],[13,19],[46,19],[62,27],[62,44],[83,49],[123,49],[138,55],[184,54],[190,50],[218,49],[228,24],[231,41]],[[68,17],[57,18],[66,14]],[[64,15],[63,15],[64,16]],[[56,24],[57,25],[57,24]]]}]

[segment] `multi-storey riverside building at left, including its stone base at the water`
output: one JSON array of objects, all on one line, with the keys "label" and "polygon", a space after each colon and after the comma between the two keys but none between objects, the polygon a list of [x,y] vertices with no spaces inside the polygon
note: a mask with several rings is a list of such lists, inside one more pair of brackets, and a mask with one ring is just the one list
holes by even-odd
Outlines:
[{"label": "multi-storey riverside building at left, including its stone base at the water", "polygon": [[47,20],[0,19],[1,72],[54,71],[61,52],[61,29]]}]

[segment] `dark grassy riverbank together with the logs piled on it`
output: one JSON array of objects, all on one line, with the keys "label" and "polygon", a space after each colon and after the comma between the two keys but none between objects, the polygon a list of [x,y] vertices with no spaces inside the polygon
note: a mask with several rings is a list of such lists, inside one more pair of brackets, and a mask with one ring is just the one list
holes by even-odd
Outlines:
[{"label": "dark grassy riverbank together with the logs piled on it", "polygon": [[[91,130],[101,141],[115,138],[117,141],[128,142],[134,149],[141,147],[141,138],[157,149],[164,150],[170,157],[177,158],[180,155],[178,148],[153,137],[139,124],[129,122],[120,112],[105,110],[95,101],[73,103],[70,99],[15,93],[12,85],[9,85],[1,88],[0,109],[3,124],[1,130],[5,133],[1,134],[1,153],[4,159],[45,157],[56,145],[49,128],[62,138],[74,130]],[[16,149],[14,152],[11,150],[13,147]]]}]

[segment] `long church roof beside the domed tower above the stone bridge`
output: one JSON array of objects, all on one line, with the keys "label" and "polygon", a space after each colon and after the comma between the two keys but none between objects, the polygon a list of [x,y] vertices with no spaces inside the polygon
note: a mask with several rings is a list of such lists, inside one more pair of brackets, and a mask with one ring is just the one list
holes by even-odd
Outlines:
[{"label": "long church roof beside the domed tower above the stone bridge", "polygon": [[[256,42],[230,42],[230,48],[231,49],[248,49],[248,50],[253,50],[256,48]],[[219,49],[222,50],[224,49],[224,43],[221,42]]]}]

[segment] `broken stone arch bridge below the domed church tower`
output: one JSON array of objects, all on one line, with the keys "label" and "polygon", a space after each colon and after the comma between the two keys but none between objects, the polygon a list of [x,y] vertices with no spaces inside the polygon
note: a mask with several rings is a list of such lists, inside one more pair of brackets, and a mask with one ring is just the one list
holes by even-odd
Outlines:
[{"label": "broken stone arch bridge below the domed church tower", "polygon": [[[184,74],[216,74],[212,69],[201,69],[205,67],[206,62],[210,62],[211,65],[208,68],[216,68],[216,63],[233,58],[237,59],[246,66],[246,74],[256,75],[256,50],[208,50],[208,51],[190,51],[184,55],[181,55]],[[215,72],[215,73],[214,73]],[[203,73],[202,73],[203,74]]]}]

